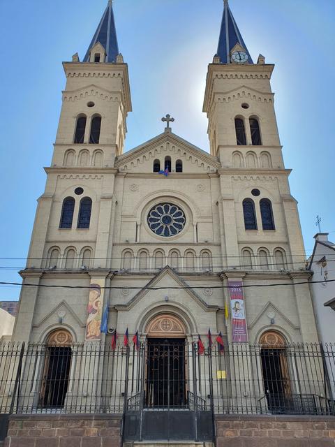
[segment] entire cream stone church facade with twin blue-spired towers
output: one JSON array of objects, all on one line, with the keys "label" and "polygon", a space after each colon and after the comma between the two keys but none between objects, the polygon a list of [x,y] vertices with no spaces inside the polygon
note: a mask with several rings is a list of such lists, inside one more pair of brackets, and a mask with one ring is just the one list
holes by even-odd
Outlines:
[{"label": "entire cream stone church facade with twin blue-spired towers", "polygon": [[[269,389],[290,394],[299,371],[306,371],[302,363],[289,365],[282,356],[284,346],[315,344],[318,335],[308,288],[311,272],[306,271],[297,202],[276,124],[270,85],[274,65],[266,64],[262,54],[254,63],[224,3],[204,94],[210,153],[174,134],[170,115],[163,118],[163,133],[124,152],[131,87],[112,1],[84,59],[75,54],[64,62],[59,128],[52,162],[45,168],[27,268],[20,272],[24,286],[13,341],[64,349],[66,356],[80,346],[109,360],[100,372],[96,365],[102,360],[94,367],[85,360],[85,373],[67,362],[65,375],[57,379],[50,358],[63,351],[47,351],[44,366],[39,353],[40,379],[31,385],[37,387],[34,397],[27,397],[33,406],[66,405],[69,376],[95,381],[114,362],[110,350],[127,348],[128,342],[133,353],[148,346],[141,360],[148,369],[140,372],[138,354],[129,374],[137,374],[135,388],[142,383],[151,406],[162,406],[159,400],[170,393],[165,389],[170,381],[185,386],[186,377],[196,379],[197,368],[199,380],[211,375],[201,359],[198,367],[185,360],[194,346],[198,354],[202,345],[211,351],[211,337],[218,340],[219,353],[229,346],[254,346],[258,360],[244,358],[243,374],[235,360],[230,365],[231,376],[242,374],[248,381],[249,391],[239,390],[240,401],[251,393],[258,402]],[[150,382],[149,374],[156,371],[151,365],[156,354],[150,350],[166,358],[166,346],[182,359],[178,372],[159,360],[158,372],[169,379],[163,385],[160,379]],[[184,353],[181,346],[191,346],[192,352]],[[267,363],[266,356],[277,354],[280,361]],[[126,361],[128,368],[128,360],[120,365]],[[254,365],[253,372],[248,365]],[[29,369],[27,378],[38,368]],[[278,381],[267,374],[278,374]],[[216,367],[214,375],[226,379],[228,367]],[[45,383],[52,381],[63,383],[60,400],[47,397]],[[274,381],[281,383],[280,390]],[[150,392],[144,382],[151,383]],[[205,402],[209,396],[226,396],[221,388],[216,383],[210,393],[199,393]],[[172,393],[177,406],[186,402],[180,389]],[[136,390],[132,386],[131,393]],[[88,388],[76,393],[89,395]],[[102,391],[95,388],[94,393]],[[121,399],[126,392],[119,384],[108,393]],[[276,406],[283,406],[281,398]],[[239,404],[238,412],[244,409]]]}]

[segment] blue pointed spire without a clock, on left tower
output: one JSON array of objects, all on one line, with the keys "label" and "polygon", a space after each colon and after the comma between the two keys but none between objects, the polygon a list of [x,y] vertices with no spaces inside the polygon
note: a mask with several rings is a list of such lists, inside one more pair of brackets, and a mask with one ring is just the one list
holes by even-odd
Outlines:
[{"label": "blue pointed spire without a clock, on left tower", "polygon": [[116,62],[117,55],[119,54],[119,47],[117,45],[117,30],[115,28],[112,0],[108,0],[107,8],[105,13],[103,13],[103,17],[96,30],[96,34],[94,34],[91,45],[89,45],[89,49],[85,54],[84,62],[89,62],[89,52],[98,42],[105,48],[107,54],[105,62]]}]

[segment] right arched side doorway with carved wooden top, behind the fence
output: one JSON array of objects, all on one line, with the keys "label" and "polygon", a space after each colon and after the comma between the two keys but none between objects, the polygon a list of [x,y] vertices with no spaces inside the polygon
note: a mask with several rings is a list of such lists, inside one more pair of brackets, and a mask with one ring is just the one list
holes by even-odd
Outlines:
[{"label": "right arched side doorway with carved wooden top, behind the fence", "polygon": [[262,349],[262,374],[271,413],[286,413],[290,409],[290,376],[284,337],[276,331],[265,332],[260,337]]}]

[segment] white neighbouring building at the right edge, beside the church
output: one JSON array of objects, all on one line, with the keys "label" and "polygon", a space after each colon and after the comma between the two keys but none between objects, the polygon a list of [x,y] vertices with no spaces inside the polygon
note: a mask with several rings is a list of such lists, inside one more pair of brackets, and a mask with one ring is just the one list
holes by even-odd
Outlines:
[{"label": "white neighbouring building at the right edge, beside the church", "polygon": [[[314,236],[313,254],[308,259],[311,277],[311,294],[320,342],[335,340],[335,244],[328,240],[328,233]],[[318,282],[320,281],[320,282]],[[327,282],[334,281],[334,282]]]}]

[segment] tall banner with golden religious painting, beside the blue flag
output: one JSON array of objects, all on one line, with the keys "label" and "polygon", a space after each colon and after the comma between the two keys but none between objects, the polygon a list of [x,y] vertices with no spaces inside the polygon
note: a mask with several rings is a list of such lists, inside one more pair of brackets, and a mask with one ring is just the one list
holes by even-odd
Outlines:
[{"label": "tall banner with golden religious painting, beside the blue flag", "polygon": [[[89,287],[89,305],[87,306],[86,339],[101,339],[101,320],[103,318],[103,287],[104,281],[94,279]],[[101,284],[98,284],[101,283]]]}]

